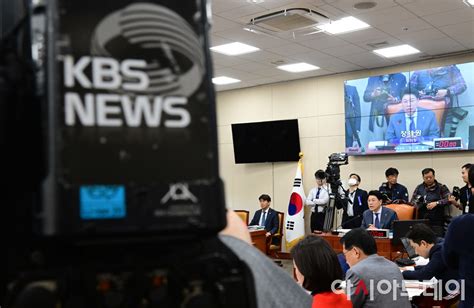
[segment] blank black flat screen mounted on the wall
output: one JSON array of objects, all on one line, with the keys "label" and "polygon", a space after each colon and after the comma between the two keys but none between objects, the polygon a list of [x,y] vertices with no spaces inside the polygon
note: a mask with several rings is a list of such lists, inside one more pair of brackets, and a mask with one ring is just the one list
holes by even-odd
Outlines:
[{"label": "blank black flat screen mounted on the wall", "polygon": [[298,161],[298,120],[232,124],[236,164]]}]

